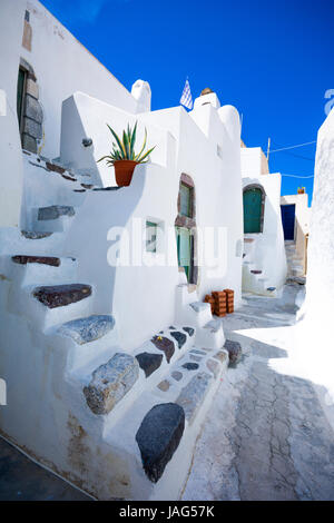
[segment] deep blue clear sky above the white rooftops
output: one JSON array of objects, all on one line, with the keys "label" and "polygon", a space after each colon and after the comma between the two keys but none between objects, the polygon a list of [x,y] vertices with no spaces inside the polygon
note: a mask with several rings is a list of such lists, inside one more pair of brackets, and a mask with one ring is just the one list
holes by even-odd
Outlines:
[{"label": "deep blue clear sky above the white rooftops", "polygon": [[[42,0],[128,89],[141,78],[153,110],[210,87],[243,114],[248,147],[316,140],[334,89],[333,0]],[[273,152],[271,171],[310,176],[315,145]],[[313,179],[283,177],[282,194]]]}]

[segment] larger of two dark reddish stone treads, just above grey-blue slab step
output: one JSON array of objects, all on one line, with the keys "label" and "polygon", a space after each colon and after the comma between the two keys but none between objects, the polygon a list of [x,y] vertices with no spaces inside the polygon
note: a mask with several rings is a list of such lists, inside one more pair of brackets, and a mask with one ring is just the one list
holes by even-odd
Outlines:
[{"label": "larger of two dark reddish stone treads, just above grey-blue slab step", "polygon": [[49,308],[62,307],[65,305],[80,302],[91,295],[90,285],[51,285],[37,287],[33,296]]}]

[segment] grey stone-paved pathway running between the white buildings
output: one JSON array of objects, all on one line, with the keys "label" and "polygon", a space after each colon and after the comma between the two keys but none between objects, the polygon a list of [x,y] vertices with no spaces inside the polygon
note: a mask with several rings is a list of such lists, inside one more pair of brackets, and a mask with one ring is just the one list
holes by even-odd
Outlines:
[{"label": "grey stone-paved pathway running between the white buildings", "polygon": [[298,286],[224,319],[244,358],[215,396],[183,500],[334,500],[334,433],[312,384],[274,369],[293,346]]}]

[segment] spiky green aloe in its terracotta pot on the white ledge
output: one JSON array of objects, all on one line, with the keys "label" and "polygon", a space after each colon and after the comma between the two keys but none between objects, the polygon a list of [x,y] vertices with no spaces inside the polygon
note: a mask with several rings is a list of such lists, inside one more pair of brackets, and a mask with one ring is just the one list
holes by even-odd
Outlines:
[{"label": "spiky green aloe in its terracotta pot on the white ledge", "polygon": [[155,149],[153,147],[145,152],[147,141],[147,130],[145,129],[145,139],[140,152],[136,155],[135,142],[137,134],[137,121],[134,129],[128,125],[127,130],[122,131],[122,140],[117,136],[114,129],[107,124],[112,137],[116,141],[112,142],[112,150],[109,155],[102,156],[98,161],[106,160],[108,166],[115,167],[116,182],[120,187],[129,186],[132,179],[136,165],[146,164],[150,152]]}]

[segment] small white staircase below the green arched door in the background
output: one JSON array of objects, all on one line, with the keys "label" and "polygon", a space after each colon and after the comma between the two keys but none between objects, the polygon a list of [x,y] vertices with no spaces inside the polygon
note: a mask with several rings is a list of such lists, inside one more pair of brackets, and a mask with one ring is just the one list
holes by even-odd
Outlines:
[{"label": "small white staircase below the green arched door in the background", "polygon": [[243,292],[261,296],[277,297],[277,289],[271,286],[265,269],[255,262],[256,238],[244,237]]}]

